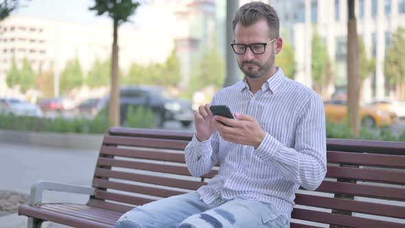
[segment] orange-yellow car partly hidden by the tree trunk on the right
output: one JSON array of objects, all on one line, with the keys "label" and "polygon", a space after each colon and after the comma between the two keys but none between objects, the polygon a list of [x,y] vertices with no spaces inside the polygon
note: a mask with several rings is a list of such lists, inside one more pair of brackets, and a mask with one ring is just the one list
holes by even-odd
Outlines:
[{"label": "orange-yellow car partly hidden by the tree trunk on the right", "polygon": [[[329,121],[341,122],[347,117],[346,100],[329,100],[323,102],[325,115]],[[395,113],[370,106],[360,106],[360,122],[362,126],[373,128],[375,126],[391,126],[397,117]]]}]

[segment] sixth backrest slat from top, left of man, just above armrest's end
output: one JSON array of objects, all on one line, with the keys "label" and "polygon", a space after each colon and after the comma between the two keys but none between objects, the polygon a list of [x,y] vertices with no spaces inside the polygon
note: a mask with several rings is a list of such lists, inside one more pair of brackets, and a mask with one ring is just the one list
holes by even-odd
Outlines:
[{"label": "sixth backrest slat from top, left of man, just above armrest's end", "polygon": [[115,181],[106,181],[104,179],[97,179],[97,178],[93,179],[93,186],[159,197],[169,197],[185,193],[175,190],[165,190],[157,187],[150,187],[150,186],[146,187],[128,183],[119,183]]}]

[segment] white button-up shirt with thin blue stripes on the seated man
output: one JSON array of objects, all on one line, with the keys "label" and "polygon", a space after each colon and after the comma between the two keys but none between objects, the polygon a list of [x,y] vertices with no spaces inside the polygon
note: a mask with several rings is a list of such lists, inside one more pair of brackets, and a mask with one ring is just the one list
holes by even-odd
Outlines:
[{"label": "white button-up shirt with thin blue stripes on the seated man", "polygon": [[246,78],[221,89],[211,101],[219,104],[255,117],[266,136],[255,149],[224,141],[218,132],[203,142],[194,135],[185,148],[189,172],[202,176],[220,161],[218,174],[197,190],[200,198],[207,204],[236,197],[271,203],[290,219],[299,186],[315,190],[326,174],[321,98],[277,67],[255,94]]}]

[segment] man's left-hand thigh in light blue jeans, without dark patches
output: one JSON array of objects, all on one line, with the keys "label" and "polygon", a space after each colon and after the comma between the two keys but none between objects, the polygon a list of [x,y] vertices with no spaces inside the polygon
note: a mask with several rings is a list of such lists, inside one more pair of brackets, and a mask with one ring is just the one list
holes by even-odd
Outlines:
[{"label": "man's left-hand thigh in light blue jeans, without dark patches", "polygon": [[122,215],[116,228],[136,227],[176,227],[182,220],[211,209],[200,201],[197,192],[163,198],[134,208]]}]

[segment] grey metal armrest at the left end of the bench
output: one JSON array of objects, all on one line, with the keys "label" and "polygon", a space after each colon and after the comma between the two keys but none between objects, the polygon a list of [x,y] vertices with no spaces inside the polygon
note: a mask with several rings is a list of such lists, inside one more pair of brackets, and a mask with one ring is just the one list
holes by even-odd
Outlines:
[{"label": "grey metal armrest at the left end of the bench", "polygon": [[38,205],[42,203],[42,196],[45,190],[86,194],[90,196],[94,196],[95,194],[94,187],[82,187],[78,185],[69,185],[65,183],[56,183],[49,181],[36,181],[31,187],[30,205]]}]

